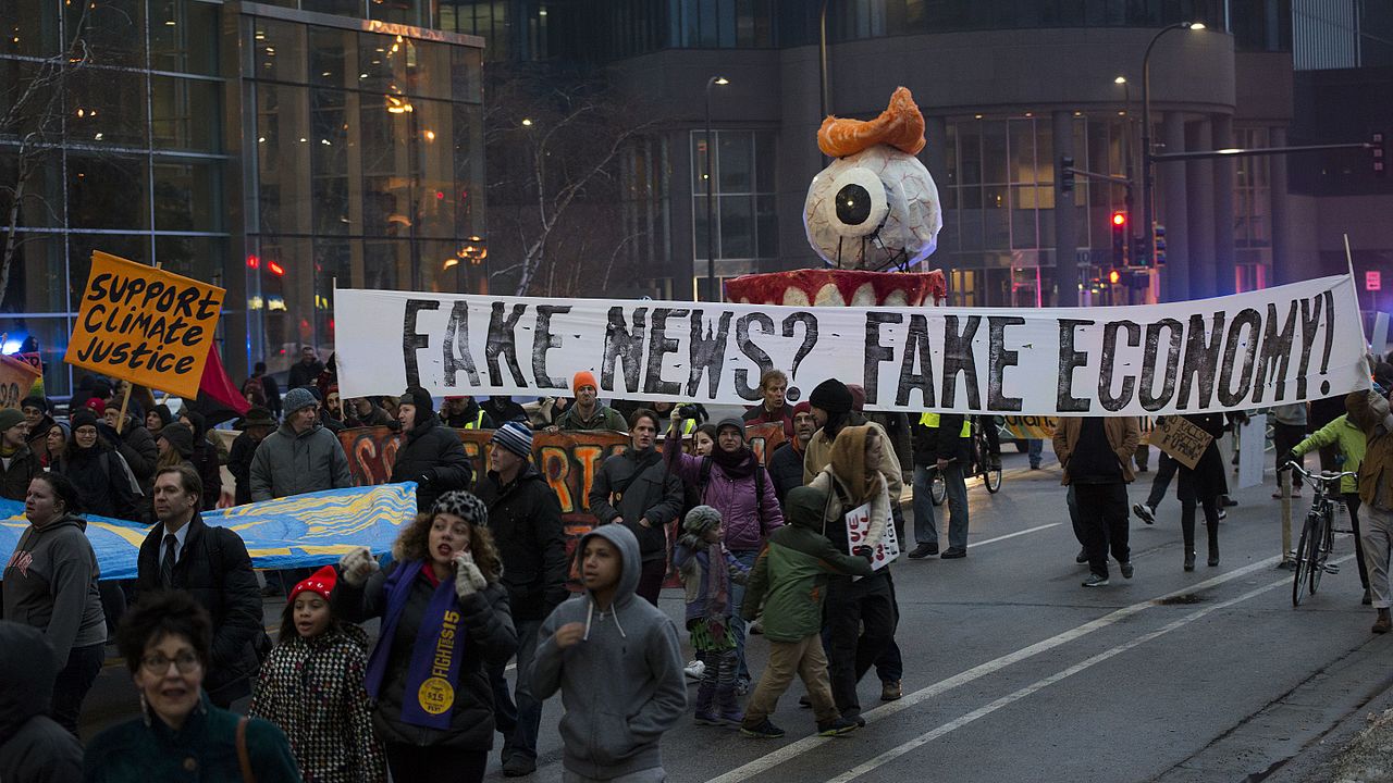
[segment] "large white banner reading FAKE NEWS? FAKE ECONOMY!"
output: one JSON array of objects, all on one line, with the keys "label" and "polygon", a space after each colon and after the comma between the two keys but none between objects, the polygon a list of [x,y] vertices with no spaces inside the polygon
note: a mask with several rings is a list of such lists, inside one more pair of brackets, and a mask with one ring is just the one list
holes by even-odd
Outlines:
[{"label": "large white banner reading FAKE NEWS? FAKE ECONOMY!", "polygon": [[338,290],[344,397],[567,396],[751,404],[829,378],[868,410],[1029,415],[1227,411],[1369,385],[1348,276],[1114,308],[816,308]]}]

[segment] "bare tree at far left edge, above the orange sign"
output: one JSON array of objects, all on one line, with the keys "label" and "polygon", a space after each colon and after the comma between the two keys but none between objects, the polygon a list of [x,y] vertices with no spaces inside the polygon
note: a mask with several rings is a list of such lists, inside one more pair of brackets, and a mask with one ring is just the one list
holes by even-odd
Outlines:
[{"label": "bare tree at far left edge, above the orange sign", "polygon": [[[0,116],[0,138],[18,139],[18,145],[14,148],[14,178],[0,183],[0,198],[8,201],[4,248],[0,254],[0,308],[10,291],[10,270],[24,244],[24,240],[18,238],[18,226],[25,202],[38,202],[40,209],[53,212],[52,205],[42,196],[29,192],[29,185],[61,149],[72,79],[92,64],[92,50],[86,40],[88,13],[92,7],[92,3],[82,4],[82,13],[61,52],[24,60],[20,68],[21,77],[4,95],[7,109]],[[8,155],[8,150],[0,148],[0,153]]]}]

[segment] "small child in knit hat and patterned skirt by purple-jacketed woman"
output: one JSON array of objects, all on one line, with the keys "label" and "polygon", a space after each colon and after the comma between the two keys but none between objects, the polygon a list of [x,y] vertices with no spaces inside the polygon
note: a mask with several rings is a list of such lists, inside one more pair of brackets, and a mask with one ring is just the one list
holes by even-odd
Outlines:
[{"label": "small child in knit hat and patterned skirt by purple-jacketed woman", "polygon": [[687,631],[705,669],[696,691],[696,723],[738,726],[736,701],[736,637],[730,633],[730,585],[745,584],[748,571],[722,543],[720,511],[696,506],[687,511],[687,531],[677,539],[673,567],[687,588]]}]

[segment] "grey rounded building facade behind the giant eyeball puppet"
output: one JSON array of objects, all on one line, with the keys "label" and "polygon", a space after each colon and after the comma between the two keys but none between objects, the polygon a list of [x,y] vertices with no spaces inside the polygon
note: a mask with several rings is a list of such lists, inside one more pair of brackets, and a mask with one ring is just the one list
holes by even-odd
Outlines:
[{"label": "grey rounded building facade behind the giant eyeball puppet", "polygon": [[[1367,67],[1358,57],[1383,57],[1389,40],[1387,14],[1360,0],[450,1],[457,29],[506,40],[488,57],[588,63],[644,104],[639,113],[666,118],[649,141],[666,162],[652,209],[671,220],[648,283],[653,295],[680,298],[706,273],[708,91],[720,277],[820,263],[802,231],[808,183],[823,164],[818,124],[825,110],[873,117],[898,85],[926,117],[921,157],[943,199],[939,249],[925,263],[949,274],[957,304],[1180,300],[1322,273],[1328,242],[1312,242],[1333,223],[1312,199],[1326,196],[1293,192],[1289,170],[1329,156],[1259,156],[1159,164],[1166,263],[1145,290],[1107,283],[1113,215],[1127,212],[1128,233],[1146,235],[1144,53],[1163,28],[1205,25],[1166,33],[1151,56],[1152,135],[1158,152],[1176,153],[1283,146],[1295,135],[1367,139],[1362,124],[1340,138],[1305,132],[1316,106],[1297,100],[1322,92],[1301,88],[1305,74]],[[717,75],[730,84],[708,88]],[[1131,178],[1130,210],[1116,181],[1081,176],[1066,196],[1064,157]],[[1362,166],[1367,155],[1334,157]]]}]

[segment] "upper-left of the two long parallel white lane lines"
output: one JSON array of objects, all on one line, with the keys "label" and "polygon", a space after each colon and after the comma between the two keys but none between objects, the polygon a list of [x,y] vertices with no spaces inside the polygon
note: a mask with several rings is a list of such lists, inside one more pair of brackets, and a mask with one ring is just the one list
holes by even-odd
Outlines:
[{"label": "upper-left of the two long parallel white lane lines", "polygon": [[[1082,626],[1078,626],[1075,628],[1070,628],[1070,630],[1067,630],[1067,631],[1064,631],[1061,634],[1056,634],[1056,635],[1053,635],[1053,637],[1050,637],[1050,638],[1048,638],[1045,641],[1039,641],[1039,642],[1035,642],[1035,644],[1032,644],[1029,646],[1021,648],[1021,649],[1018,649],[1015,652],[1006,653],[1006,655],[1003,655],[1000,658],[996,658],[993,660],[988,660],[986,663],[981,663],[978,666],[974,666],[972,669],[968,669],[967,672],[961,672],[958,674],[954,674],[953,677],[949,677],[947,680],[942,680],[942,681],[935,683],[935,684],[932,684],[932,685],[929,685],[926,688],[914,691],[912,694],[907,694],[900,701],[894,701],[894,702],[878,706],[875,709],[871,709],[871,711],[865,712],[864,715],[865,715],[866,719],[872,719],[872,718],[873,719],[889,718],[889,716],[897,713],[897,712],[903,712],[905,709],[910,709],[911,706],[914,706],[917,704],[921,704],[924,701],[928,701],[931,698],[942,695],[942,694],[944,694],[947,691],[951,691],[953,688],[957,688],[958,685],[965,685],[965,684],[968,684],[968,683],[971,683],[974,680],[979,680],[979,679],[986,677],[989,674],[995,674],[995,673],[1000,672],[1002,669],[1006,669],[1007,666],[1011,666],[1014,663],[1020,663],[1021,660],[1025,660],[1027,658],[1039,655],[1042,652],[1048,652],[1048,651],[1055,649],[1055,648],[1057,648],[1060,645],[1066,645],[1066,644],[1068,644],[1068,642],[1071,642],[1074,639],[1087,637],[1088,634],[1092,634],[1094,631],[1100,631],[1100,630],[1103,630],[1103,628],[1106,628],[1106,627],[1109,627],[1109,626],[1112,626],[1114,623],[1119,623],[1120,620],[1124,620],[1127,617],[1131,617],[1133,614],[1137,614],[1138,612],[1142,612],[1145,609],[1149,609],[1149,607],[1155,606],[1158,600],[1165,600],[1167,598],[1174,598],[1177,595],[1185,595],[1185,594],[1199,592],[1202,589],[1209,589],[1212,587],[1217,587],[1217,585],[1222,585],[1224,582],[1247,577],[1248,574],[1251,574],[1254,571],[1258,571],[1258,570],[1262,570],[1262,568],[1270,568],[1270,567],[1273,567],[1276,564],[1277,564],[1277,557],[1268,557],[1266,560],[1258,560],[1256,563],[1251,563],[1251,564],[1244,566],[1241,568],[1229,571],[1227,574],[1220,574],[1217,577],[1205,580],[1202,582],[1195,582],[1195,584],[1192,584],[1190,587],[1185,587],[1185,588],[1181,588],[1181,589],[1177,589],[1177,591],[1173,591],[1173,592],[1167,592],[1166,595],[1160,595],[1160,596],[1156,596],[1156,598],[1141,600],[1141,602],[1133,603],[1131,606],[1124,606],[1124,607],[1117,609],[1117,610],[1114,610],[1114,612],[1112,612],[1109,614],[1105,614],[1105,616],[1102,616],[1102,617],[1099,617],[1096,620],[1091,620],[1088,623],[1084,623]],[[1290,578],[1287,581],[1290,581]],[[801,755],[801,754],[804,754],[804,752],[807,752],[807,751],[809,751],[809,750],[812,750],[812,748],[815,748],[815,747],[818,747],[818,745],[820,745],[823,743],[833,743],[833,741],[836,741],[836,738],[833,738],[833,737],[818,737],[816,734],[814,734],[811,737],[804,737],[802,740],[798,740],[795,743],[790,743],[790,744],[787,744],[787,745],[784,745],[784,747],[781,747],[779,750],[775,750],[773,752],[769,752],[769,754],[766,754],[766,755],[763,755],[761,758],[756,758],[755,761],[751,761],[749,763],[737,766],[736,769],[731,769],[730,772],[727,772],[724,775],[720,775],[717,777],[712,777],[708,783],[738,783],[740,780],[745,780],[748,777],[754,777],[755,775],[761,775],[763,772],[768,772],[768,770],[779,766],[780,763],[783,763],[783,762],[786,762],[788,759],[797,758],[798,755]]]}]

